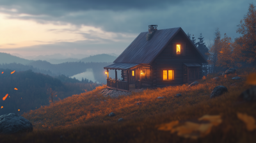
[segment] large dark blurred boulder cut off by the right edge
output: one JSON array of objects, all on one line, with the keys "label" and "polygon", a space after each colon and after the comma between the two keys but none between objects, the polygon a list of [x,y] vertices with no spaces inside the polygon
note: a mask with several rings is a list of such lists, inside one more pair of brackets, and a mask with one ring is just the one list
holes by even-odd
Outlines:
[{"label": "large dark blurred boulder cut off by the right edge", "polygon": [[250,89],[247,89],[243,93],[241,93],[238,97],[241,100],[246,102],[255,102],[256,101],[256,86],[253,86]]}]

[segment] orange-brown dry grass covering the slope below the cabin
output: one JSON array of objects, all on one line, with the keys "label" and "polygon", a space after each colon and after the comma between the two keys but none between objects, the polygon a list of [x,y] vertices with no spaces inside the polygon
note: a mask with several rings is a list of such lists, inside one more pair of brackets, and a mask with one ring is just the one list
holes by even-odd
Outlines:
[{"label": "orange-brown dry grass covering the slope below the cabin", "polygon": [[[23,114],[36,129],[25,137],[18,135],[12,140],[22,138],[24,142],[252,142],[256,132],[248,132],[244,123],[237,119],[237,112],[256,118],[256,103],[238,102],[237,96],[250,86],[244,84],[246,76],[256,72],[254,68],[238,70],[236,74],[212,80],[209,75],[195,87],[188,85],[147,89],[141,93],[118,98],[104,97],[99,91],[73,95],[50,106],[41,107]],[[239,76],[241,80],[231,80]],[[235,84],[236,86],[230,86]],[[228,93],[218,98],[209,98],[216,86],[226,86]],[[175,97],[180,93],[182,96]],[[164,99],[157,99],[164,96]],[[106,100],[106,102],[104,102]],[[136,105],[141,102],[141,105]],[[108,117],[110,112],[116,116]],[[221,115],[223,123],[212,132],[198,140],[184,139],[175,133],[159,131],[157,124],[170,121],[195,121],[205,114]],[[117,123],[124,118],[124,123]],[[42,123],[38,123],[42,121]],[[51,129],[45,131],[45,129]],[[2,136],[3,137],[3,136]],[[9,139],[12,135],[3,139]],[[1,137],[0,137],[1,139]],[[65,140],[63,140],[65,139]],[[44,140],[44,141],[43,141]]]}]

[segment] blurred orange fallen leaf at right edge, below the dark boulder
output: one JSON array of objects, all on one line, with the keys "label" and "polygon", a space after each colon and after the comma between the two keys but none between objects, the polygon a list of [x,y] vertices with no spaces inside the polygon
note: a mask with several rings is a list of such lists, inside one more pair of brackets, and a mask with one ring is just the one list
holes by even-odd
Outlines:
[{"label": "blurred orange fallen leaf at right edge, below the dark boulder", "polygon": [[248,131],[256,129],[255,119],[252,116],[237,112],[237,117],[246,124],[246,128]]}]

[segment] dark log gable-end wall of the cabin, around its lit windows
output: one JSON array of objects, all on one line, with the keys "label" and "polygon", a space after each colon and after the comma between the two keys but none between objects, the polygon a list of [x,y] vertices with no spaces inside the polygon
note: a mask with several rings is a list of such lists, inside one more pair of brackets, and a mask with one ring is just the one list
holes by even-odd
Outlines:
[{"label": "dark log gable-end wall of the cabin, around its lit windows", "polygon": [[[186,56],[173,56],[173,42],[186,43]],[[169,85],[180,85],[183,82],[183,63],[202,63],[193,45],[186,39],[180,31],[168,43],[165,49],[152,62],[152,85],[155,87],[164,87]],[[174,80],[163,80],[163,70],[173,70]]]}]

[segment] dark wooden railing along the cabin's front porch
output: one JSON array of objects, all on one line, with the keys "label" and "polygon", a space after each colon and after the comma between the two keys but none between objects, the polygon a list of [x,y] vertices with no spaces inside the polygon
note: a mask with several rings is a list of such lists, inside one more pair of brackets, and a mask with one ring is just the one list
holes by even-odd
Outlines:
[{"label": "dark wooden railing along the cabin's front porch", "polygon": [[129,91],[129,86],[127,81],[107,79],[107,86],[108,88],[111,88],[111,89],[116,89],[120,91]]}]

